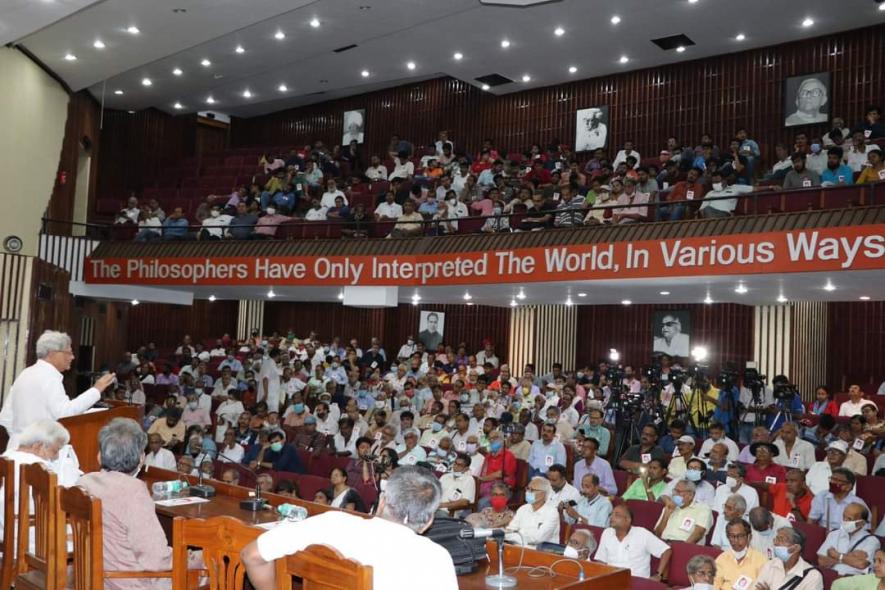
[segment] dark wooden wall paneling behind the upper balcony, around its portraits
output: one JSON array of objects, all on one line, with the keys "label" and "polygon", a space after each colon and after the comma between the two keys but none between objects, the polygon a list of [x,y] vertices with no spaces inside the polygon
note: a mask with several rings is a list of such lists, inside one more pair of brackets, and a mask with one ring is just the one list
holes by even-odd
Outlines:
[{"label": "dark wooden wall paneling behind the upper balcony, around its portraits", "polygon": [[773,157],[774,144],[792,142],[803,130],[820,135],[825,125],[783,127],[783,80],[830,71],[832,113],[853,125],[868,103],[885,94],[885,25],[803,39],[773,47],[679,62],[644,70],[495,96],[452,78],[308,105],[249,119],[233,118],[231,145],[303,145],[341,140],[344,111],[366,109],[366,144],[383,153],[391,133],[428,145],[448,129],[456,147],[475,152],[492,138],[503,150],[523,150],[556,138],[571,144],[575,111],[610,107],[609,151],[625,140],[645,157],[655,156],[666,138],[697,142],[704,132],[727,147],[738,126]]}]

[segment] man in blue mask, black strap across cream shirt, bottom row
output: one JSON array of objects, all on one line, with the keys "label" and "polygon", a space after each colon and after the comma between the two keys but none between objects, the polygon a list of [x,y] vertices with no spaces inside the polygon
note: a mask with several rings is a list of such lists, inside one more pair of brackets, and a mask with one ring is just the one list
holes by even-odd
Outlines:
[{"label": "man in blue mask, black strap across cream shirt, bottom row", "polygon": [[770,559],[759,571],[755,590],[777,590],[789,584],[791,590],[823,590],[820,571],[802,559],[805,534],[787,526],[777,530]]}]

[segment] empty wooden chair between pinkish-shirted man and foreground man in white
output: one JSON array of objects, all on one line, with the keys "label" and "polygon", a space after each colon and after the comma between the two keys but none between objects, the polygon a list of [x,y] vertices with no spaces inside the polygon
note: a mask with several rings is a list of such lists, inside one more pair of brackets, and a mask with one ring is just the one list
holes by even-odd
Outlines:
[{"label": "empty wooden chair between pinkish-shirted man and foreground man in white", "polygon": [[203,550],[209,590],[242,590],[246,567],[240,559],[240,551],[262,532],[232,516],[176,518],[172,523],[172,587],[191,586],[187,550],[193,547]]}]

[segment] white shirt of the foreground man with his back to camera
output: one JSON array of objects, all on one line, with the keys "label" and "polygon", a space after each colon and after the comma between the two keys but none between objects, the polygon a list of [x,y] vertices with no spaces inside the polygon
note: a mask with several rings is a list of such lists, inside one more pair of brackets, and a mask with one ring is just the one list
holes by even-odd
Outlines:
[{"label": "white shirt of the foreground man with his back to camera", "polygon": [[373,587],[412,590],[457,590],[449,552],[411,529],[384,518],[361,518],[330,511],[301,522],[282,521],[258,537],[265,561],[292,555],[308,545],[328,545],[345,559],[372,566]]}]

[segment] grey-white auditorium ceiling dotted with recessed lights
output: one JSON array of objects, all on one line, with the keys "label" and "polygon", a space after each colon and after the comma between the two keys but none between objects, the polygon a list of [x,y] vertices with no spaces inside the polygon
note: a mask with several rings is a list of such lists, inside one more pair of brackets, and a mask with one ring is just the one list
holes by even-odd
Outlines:
[{"label": "grey-white auditorium ceiling dotted with recessed lights", "polygon": [[[501,74],[515,82],[488,91],[506,94],[885,20],[873,0],[523,3],[5,0],[0,41],[110,108],[195,112],[211,96],[254,116],[439,75],[481,87]],[[683,33],[695,45],[682,51],[651,42]]]}]

